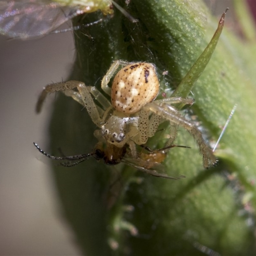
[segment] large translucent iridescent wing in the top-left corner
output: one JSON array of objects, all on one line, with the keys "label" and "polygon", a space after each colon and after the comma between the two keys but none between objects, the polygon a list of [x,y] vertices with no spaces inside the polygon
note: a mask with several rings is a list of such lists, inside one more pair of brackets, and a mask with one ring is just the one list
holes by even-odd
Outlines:
[{"label": "large translucent iridescent wing in the top-left corner", "polygon": [[29,39],[43,36],[83,13],[79,6],[52,1],[0,1],[0,33]]}]

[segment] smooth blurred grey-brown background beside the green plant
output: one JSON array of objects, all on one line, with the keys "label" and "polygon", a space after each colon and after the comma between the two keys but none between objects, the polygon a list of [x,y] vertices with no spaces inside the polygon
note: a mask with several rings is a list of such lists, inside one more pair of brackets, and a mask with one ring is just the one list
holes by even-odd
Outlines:
[{"label": "smooth blurred grey-brown background beside the green plant", "polygon": [[[207,4],[218,15],[231,6]],[[40,115],[36,100],[44,85],[67,80],[75,60],[72,33],[28,41],[0,36],[0,60],[0,255],[80,255],[50,164],[33,145],[47,148],[54,94]]]}]

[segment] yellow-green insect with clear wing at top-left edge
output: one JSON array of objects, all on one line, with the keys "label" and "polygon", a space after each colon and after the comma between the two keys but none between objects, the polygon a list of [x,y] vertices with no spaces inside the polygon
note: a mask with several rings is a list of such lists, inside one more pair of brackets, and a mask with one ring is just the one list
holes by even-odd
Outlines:
[{"label": "yellow-green insect with clear wing at top-left edge", "polygon": [[[137,21],[114,0],[1,0],[0,33],[20,39],[44,36],[80,14],[97,10],[104,15],[113,14],[112,4],[129,20]],[[86,26],[100,21],[96,20]]]}]

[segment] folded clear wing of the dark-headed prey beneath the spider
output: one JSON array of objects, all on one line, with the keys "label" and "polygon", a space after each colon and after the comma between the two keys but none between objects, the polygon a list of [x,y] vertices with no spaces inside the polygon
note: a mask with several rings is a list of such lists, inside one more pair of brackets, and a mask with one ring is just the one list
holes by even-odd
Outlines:
[{"label": "folded clear wing of the dark-headed prey beneath the spider", "polygon": [[149,166],[148,161],[144,161],[140,158],[138,159],[124,158],[122,159],[122,162],[155,177],[161,177],[161,178],[172,179],[172,180],[180,179],[180,177],[176,178],[176,177],[168,176],[167,174],[165,174],[163,172],[163,169],[164,169],[163,164],[150,162],[150,166]]}]

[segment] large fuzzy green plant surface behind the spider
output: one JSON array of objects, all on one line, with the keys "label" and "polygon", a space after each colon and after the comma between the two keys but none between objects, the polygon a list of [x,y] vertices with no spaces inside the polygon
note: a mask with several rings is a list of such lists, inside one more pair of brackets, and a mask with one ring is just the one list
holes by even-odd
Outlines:
[{"label": "large fuzzy green plant surface behind the spider", "polygon": [[[132,0],[127,11],[140,21],[132,23],[115,9],[102,24],[75,32],[72,78],[100,87],[113,60],[153,62],[162,91],[169,96],[210,42],[220,17],[212,17],[201,1]],[[101,15],[89,14],[83,22]],[[183,129],[175,144],[191,149],[172,148],[164,162],[168,175],[186,176],[181,180],[95,159],[72,169],[53,163],[65,216],[84,253],[204,255],[211,249],[216,254],[210,255],[255,254],[255,55],[254,42],[224,28],[190,94],[196,103],[187,116],[196,116],[209,143],[218,139],[237,104],[216,150],[217,167],[203,169],[196,143]],[[168,76],[162,75],[164,70]],[[85,109],[63,95],[55,105],[52,153],[59,147],[65,155],[91,152],[96,127]],[[150,145],[159,148],[163,142],[164,133],[159,132]]]}]

